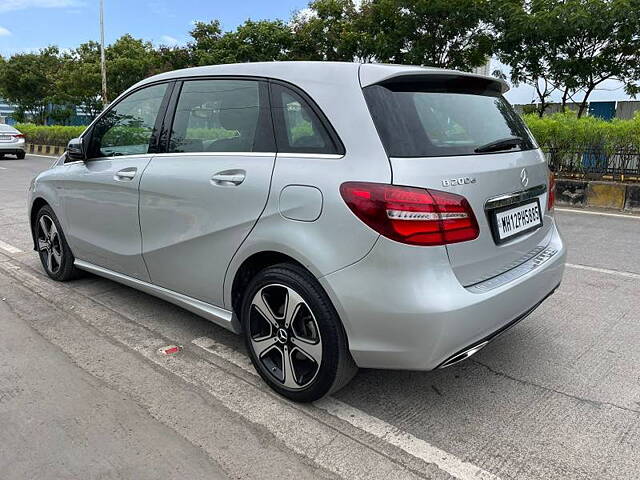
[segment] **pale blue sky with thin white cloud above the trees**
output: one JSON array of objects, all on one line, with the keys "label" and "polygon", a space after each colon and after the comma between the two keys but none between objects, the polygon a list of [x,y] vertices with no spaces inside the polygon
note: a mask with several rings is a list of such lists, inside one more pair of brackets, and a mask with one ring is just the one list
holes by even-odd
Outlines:
[{"label": "pale blue sky with thin white cloud above the trees", "polygon": [[[105,41],[125,33],[156,45],[181,45],[189,40],[194,21],[218,19],[233,30],[246,19],[288,20],[308,0],[104,0]],[[99,39],[99,0],[0,0],[0,55],[37,50],[48,45],[74,48]],[[492,71],[501,66],[492,61]],[[502,67],[504,70],[504,67]],[[530,103],[533,87],[507,93],[512,103]],[[580,97],[578,96],[578,99]],[[627,99],[622,86],[607,82],[591,100]],[[557,99],[557,98],[556,98]]]}]

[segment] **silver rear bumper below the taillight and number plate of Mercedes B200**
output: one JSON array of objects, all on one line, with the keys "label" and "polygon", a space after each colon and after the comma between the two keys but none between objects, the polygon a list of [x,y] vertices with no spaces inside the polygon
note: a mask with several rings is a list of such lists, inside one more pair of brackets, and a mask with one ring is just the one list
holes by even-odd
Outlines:
[{"label": "silver rear bumper below the taillight and number plate of Mercedes B200", "polygon": [[360,367],[432,370],[515,325],[557,288],[566,250],[555,225],[545,252],[516,278],[510,271],[506,282],[465,288],[444,247],[381,237],[363,260],[320,282]]}]

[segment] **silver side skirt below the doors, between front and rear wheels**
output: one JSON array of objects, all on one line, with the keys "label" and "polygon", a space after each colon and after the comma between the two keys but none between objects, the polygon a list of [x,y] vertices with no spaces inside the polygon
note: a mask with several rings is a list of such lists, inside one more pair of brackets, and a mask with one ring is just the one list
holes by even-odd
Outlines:
[{"label": "silver side skirt below the doors, between front and rear wheels", "polygon": [[89,262],[84,262],[82,260],[76,259],[74,265],[80,270],[86,270],[87,272],[93,273],[100,277],[108,278],[109,280],[113,280],[114,282],[122,283],[123,285],[127,285],[128,287],[135,288],[136,290],[140,290],[142,292],[148,293],[149,295],[153,295],[155,297],[166,300],[167,302],[171,302],[175,305],[178,305],[179,307],[184,308],[185,310],[189,310],[196,315],[206,318],[207,320],[220,325],[227,330],[231,330],[234,333],[241,332],[240,322],[238,321],[236,316],[229,310],[216,307],[215,305],[202,302],[200,300],[188,297],[187,295],[183,295],[181,293],[174,292],[167,288],[158,287],[157,285],[138,280],[137,278],[129,277],[127,275],[123,275],[121,273],[117,273],[112,270],[93,265]]}]

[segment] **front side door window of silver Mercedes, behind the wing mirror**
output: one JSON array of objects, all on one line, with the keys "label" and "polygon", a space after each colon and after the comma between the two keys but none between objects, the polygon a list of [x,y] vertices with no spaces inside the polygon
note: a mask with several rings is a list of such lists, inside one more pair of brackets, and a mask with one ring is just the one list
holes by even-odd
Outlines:
[{"label": "front side door window of silver Mercedes, behind the wing mirror", "polygon": [[103,115],[93,127],[89,158],[149,153],[166,90],[167,84],[143,88]]}]

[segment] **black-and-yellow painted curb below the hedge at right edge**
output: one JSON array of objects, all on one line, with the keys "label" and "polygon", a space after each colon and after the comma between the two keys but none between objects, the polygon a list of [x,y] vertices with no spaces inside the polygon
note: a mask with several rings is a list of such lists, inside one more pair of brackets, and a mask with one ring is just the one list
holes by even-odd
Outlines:
[{"label": "black-and-yellow painted curb below the hedge at right edge", "polygon": [[556,180],[558,205],[640,212],[640,185],[616,182]]}]

